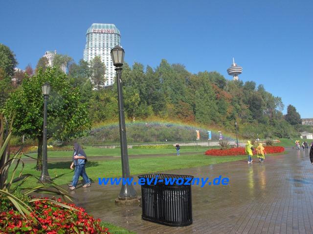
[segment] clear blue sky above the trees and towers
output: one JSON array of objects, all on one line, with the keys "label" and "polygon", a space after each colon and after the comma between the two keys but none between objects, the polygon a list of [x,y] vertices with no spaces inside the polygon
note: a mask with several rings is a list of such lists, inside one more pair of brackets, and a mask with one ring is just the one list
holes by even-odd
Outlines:
[{"label": "clear blue sky above the trees and towers", "polygon": [[263,84],[313,118],[312,0],[14,0],[0,7],[0,43],[18,67],[36,66],[45,51],[83,59],[92,23],[113,23],[125,60],[156,68],[161,59],[191,73],[225,78],[232,58],[241,80]]}]

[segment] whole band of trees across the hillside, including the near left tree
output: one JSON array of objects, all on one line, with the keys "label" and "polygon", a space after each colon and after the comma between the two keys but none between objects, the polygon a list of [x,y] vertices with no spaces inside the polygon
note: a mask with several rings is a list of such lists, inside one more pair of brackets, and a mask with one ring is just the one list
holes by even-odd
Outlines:
[{"label": "whole band of trees across the hillside, including the near left tree", "polygon": [[[36,68],[28,65],[15,71],[14,53],[0,44],[1,112],[14,115],[14,133],[42,139],[43,98],[41,86],[48,81],[48,137],[62,141],[86,135],[92,124],[117,120],[117,87],[105,84],[105,64],[100,57],[75,63],[56,55],[53,67],[40,58]],[[67,74],[60,69],[67,65]],[[158,116],[222,127],[234,132],[235,121],[242,137],[292,137],[297,134],[300,115],[279,97],[254,81],[227,80],[218,72],[192,74],[181,64],[162,59],[156,68],[127,63],[122,73],[126,117],[144,119]],[[39,147],[40,148],[40,147]],[[39,153],[40,155],[41,153]],[[40,167],[40,165],[39,165]]]}]

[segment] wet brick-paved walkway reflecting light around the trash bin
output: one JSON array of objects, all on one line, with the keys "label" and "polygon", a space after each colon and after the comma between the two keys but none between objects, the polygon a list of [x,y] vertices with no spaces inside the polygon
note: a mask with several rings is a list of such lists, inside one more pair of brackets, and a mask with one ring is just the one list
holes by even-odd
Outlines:
[{"label": "wet brick-paved walkway reflecting light around the trash bin", "polygon": [[[138,234],[312,234],[313,166],[309,152],[289,149],[264,164],[237,161],[169,173],[229,177],[228,186],[192,187],[193,224],[168,227],[141,219],[141,207],[117,206],[119,186],[78,188],[77,204],[96,218]],[[102,177],[99,172],[99,177]],[[135,186],[140,194],[140,187]]]}]

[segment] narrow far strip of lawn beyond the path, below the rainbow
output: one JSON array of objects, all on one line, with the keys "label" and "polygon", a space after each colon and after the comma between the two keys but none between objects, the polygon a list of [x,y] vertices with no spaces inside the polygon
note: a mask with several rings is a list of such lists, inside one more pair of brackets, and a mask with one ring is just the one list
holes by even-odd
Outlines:
[{"label": "narrow far strip of lawn beyond the path, below the rainbow", "polygon": [[[213,147],[210,147],[213,148]],[[200,147],[198,146],[198,151],[194,146],[182,146],[180,147],[180,153],[183,154],[184,152],[199,152],[204,153],[208,148],[207,147]],[[84,151],[86,152],[87,157],[92,156],[120,156],[121,149],[107,149],[107,148],[97,148],[92,146],[84,147]],[[51,157],[67,157],[71,160],[73,151],[48,151],[48,158]],[[153,154],[176,154],[176,149],[128,149],[128,155],[153,155]],[[32,157],[37,158],[37,153],[27,154]]]}]

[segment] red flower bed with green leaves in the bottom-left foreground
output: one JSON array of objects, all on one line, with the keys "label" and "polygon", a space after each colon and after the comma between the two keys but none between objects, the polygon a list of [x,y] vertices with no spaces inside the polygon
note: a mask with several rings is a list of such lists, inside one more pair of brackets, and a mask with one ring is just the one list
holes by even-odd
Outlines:
[{"label": "red flower bed with green leaves in the bottom-left foreground", "polygon": [[[61,199],[58,200],[59,202]],[[63,203],[67,204],[67,203]],[[100,219],[94,219],[81,207],[67,204],[78,211],[60,207],[49,201],[36,201],[30,203],[39,223],[26,220],[19,212],[10,210],[0,213],[0,234],[109,234],[107,228],[100,225]]]}]

